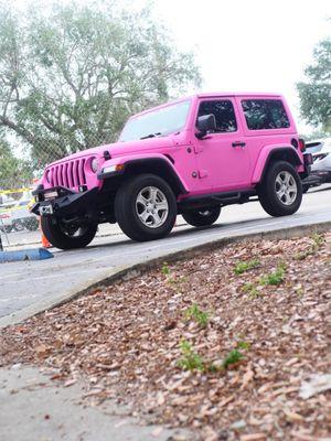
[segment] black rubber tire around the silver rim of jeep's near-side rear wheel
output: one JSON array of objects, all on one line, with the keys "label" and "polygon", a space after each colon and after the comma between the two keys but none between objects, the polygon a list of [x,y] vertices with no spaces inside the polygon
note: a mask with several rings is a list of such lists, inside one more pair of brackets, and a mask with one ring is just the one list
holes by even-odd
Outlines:
[{"label": "black rubber tire around the silver rim of jeep's near-side rear wheel", "polygon": [[[296,194],[292,193],[293,201],[288,205],[277,196],[276,179],[280,173],[289,173],[297,186]],[[270,216],[288,216],[296,213],[302,201],[302,184],[296,169],[285,161],[273,162],[258,187],[258,197],[263,208]]]}]

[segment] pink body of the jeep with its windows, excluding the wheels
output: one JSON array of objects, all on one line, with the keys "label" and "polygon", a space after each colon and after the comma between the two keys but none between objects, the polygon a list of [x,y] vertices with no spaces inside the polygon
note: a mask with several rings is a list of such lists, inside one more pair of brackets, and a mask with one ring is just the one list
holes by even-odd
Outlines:
[{"label": "pink body of the jeep with its windows, excluding the wheels", "polygon": [[[215,108],[215,115],[220,111],[220,121],[217,115],[211,114],[221,129],[217,126],[217,130],[199,136],[197,119],[201,114],[204,116],[203,108]],[[179,109],[178,114],[181,111],[180,127],[175,130],[173,109]],[[139,125],[163,114],[162,132],[147,130],[141,137]],[[222,115],[228,119],[225,126]],[[125,176],[139,173],[153,173],[168,182],[178,202],[178,213],[190,207],[191,202],[215,200],[217,195],[221,205],[248,202],[256,195],[268,164],[276,160],[290,163],[301,178],[309,173],[296,123],[280,95],[199,94],[132,116],[118,142],[81,151],[50,164],[36,191],[34,213],[54,215],[56,197],[64,195],[60,191],[55,202],[54,197],[47,197],[54,189],[67,190],[75,201],[76,194],[93,192],[94,201],[99,198],[100,204],[105,194],[109,194],[111,205]],[[50,205],[50,200],[51,212],[40,209]],[[82,201],[88,204],[87,196]],[[73,214],[75,204],[73,209],[67,204],[64,214]],[[81,203],[77,209],[82,212]],[[117,220],[111,207],[109,213],[96,217],[96,223]]]}]

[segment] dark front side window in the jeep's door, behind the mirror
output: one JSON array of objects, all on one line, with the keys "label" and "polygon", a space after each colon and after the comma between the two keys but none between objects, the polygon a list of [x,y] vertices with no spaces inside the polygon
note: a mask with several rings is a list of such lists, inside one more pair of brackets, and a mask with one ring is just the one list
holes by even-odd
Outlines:
[{"label": "dark front side window in the jeep's door, behind the mirror", "polygon": [[197,118],[211,114],[215,116],[217,132],[237,130],[234,107],[232,101],[228,99],[201,103],[199,106]]}]

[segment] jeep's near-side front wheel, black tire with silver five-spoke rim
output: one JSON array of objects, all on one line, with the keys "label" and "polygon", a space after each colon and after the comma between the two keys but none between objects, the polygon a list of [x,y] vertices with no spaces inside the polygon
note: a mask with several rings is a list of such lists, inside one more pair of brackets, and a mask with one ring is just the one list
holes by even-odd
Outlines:
[{"label": "jeep's near-side front wheel, black tire with silver five-spoke rim", "polygon": [[166,237],[174,225],[175,216],[177,201],[171,187],[153,174],[134,176],[116,194],[116,220],[134,240]]}]

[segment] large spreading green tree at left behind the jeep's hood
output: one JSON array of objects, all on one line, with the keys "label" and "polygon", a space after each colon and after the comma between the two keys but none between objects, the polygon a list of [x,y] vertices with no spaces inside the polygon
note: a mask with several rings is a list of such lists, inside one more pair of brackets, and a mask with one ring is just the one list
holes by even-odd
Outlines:
[{"label": "large spreading green tree at left behind the jeep's hood", "polygon": [[200,83],[148,10],[108,4],[0,11],[0,128],[41,163],[114,141],[129,115]]}]

